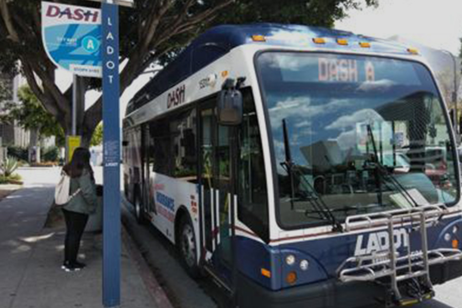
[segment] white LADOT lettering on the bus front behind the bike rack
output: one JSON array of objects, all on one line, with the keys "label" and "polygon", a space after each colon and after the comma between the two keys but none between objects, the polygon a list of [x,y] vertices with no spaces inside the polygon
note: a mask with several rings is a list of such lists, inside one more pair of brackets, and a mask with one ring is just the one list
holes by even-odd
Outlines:
[{"label": "white LADOT lettering on the bus front behind the bike rack", "polygon": [[[395,248],[409,246],[409,237],[406,229],[393,230]],[[372,252],[384,251],[390,248],[390,238],[387,231],[368,234],[359,234],[356,239],[355,256],[370,255]]]}]

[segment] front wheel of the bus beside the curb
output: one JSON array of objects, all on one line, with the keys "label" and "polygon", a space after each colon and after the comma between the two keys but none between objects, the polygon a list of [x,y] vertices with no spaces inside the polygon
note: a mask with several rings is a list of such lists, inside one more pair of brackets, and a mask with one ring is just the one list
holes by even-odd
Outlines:
[{"label": "front wheel of the bus beside the curb", "polygon": [[192,278],[199,277],[199,266],[197,262],[197,241],[188,214],[183,214],[179,221],[177,233],[177,249],[183,267]]}]

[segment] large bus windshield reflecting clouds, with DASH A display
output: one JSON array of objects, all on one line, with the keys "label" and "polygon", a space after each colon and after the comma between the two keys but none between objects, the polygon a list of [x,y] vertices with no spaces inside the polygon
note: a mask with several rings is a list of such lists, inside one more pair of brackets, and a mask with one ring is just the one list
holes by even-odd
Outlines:
[{"label": "large bus windshield reflecting clouds, with DASH A display", "polygon": [[267,51],[256,66],[283,227],[455,203],[450,126],[424,65]]}]

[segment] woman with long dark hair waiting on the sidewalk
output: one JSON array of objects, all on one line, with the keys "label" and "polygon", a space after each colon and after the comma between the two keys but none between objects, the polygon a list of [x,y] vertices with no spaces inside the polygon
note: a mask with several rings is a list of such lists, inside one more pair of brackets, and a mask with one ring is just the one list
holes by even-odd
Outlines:
[{"label": "woman with long dark hair waiting on the sidewalk", "polygon": [[63,167],[63,171],[71,178],[69,195],[75,195],[63,207],[66,238],[62,268],[75,271],[85,267],[84,263],[77,261],[77,255],[88,215],[96,210],[98,202],[88,149],[75,149],[71,161]]}]

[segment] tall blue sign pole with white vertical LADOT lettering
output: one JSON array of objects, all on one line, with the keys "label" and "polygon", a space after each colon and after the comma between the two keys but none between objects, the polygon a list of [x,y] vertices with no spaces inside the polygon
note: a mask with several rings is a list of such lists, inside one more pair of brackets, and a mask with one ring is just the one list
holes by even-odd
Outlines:
[{"label": "tall blue sign pole with white vertical LADOT lettering", "polygon": [[103,305],[120,306],[119,7],[103,3]]}]

